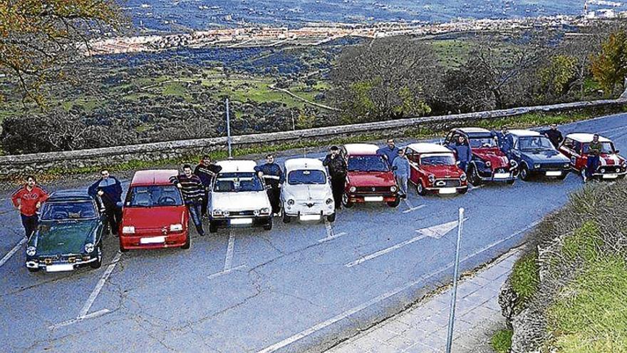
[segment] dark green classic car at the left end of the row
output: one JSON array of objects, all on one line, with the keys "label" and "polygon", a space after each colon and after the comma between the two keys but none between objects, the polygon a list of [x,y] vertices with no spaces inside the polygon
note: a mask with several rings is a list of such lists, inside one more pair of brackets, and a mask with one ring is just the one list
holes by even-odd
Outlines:
[{"label": "dark green classic car at the left end of the row", "polygon": [[30,272],[62,272],[103,263],[105,216],[87,191],[56,191],[41,206],[37,230],[26,243]]}]

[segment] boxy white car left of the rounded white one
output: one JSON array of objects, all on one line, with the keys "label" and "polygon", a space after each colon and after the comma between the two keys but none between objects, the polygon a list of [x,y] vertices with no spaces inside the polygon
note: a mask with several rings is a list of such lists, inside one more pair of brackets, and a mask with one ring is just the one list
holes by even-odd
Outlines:
[{"label": "boxy white car left of the rounded white one", "polygon": [[271,205],[266,185],[255,173],[254,160],[222,160],[209,198],[209,232],[219,227],[272,229]]}]

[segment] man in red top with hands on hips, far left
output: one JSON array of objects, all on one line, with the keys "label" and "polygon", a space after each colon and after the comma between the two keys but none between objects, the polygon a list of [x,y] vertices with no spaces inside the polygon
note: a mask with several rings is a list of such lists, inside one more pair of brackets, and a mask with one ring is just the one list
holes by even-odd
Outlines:
[{"label": "man in red top with hands on hips, far left", "polygon": [[26,230],[26,237],[30,237],[37,229],[37,223],[39,221],[37,211],[41,208],[41,204],[48,200],[49,197],[46,190],[38,187],[36,183],[35,177],[28,175],[28,177],[26,177],[26,185],[19,188],[13,193],[13,196],[11,196],[13,205],[20,211],[22,225],[24,225],[24,230]]}]

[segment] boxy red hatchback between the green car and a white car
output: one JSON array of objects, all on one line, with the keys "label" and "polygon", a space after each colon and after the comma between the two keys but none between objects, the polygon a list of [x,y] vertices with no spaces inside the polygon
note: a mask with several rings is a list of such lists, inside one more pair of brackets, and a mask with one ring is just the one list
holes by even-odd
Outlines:
[{"label": "boxy red hatchback between the green car and a white car", "polygon": [[180,190],[170,182],[176,170],[140,170],[130,182],[122,209],[120,251],[190,248],[189,214]]}]

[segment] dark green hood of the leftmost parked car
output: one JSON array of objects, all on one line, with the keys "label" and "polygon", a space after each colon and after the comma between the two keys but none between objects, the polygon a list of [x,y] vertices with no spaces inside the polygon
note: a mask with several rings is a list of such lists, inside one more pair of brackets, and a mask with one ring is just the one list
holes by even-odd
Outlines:
[{"label": "dark green hood of the leftmost parked car", "polygon": [[37,255],[82,253],[86,242],[93,241],[98,219],[43,221],[29,246],[37,248]]}]

